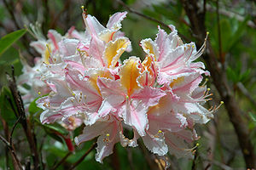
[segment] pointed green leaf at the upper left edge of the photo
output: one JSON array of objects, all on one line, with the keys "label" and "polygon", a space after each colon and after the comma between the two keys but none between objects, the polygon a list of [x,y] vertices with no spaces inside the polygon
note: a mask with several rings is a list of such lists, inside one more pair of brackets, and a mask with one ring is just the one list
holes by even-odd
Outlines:
[{"label": "pointed green leaf at the upper left edge of the photo", "polygon": [[20,39],[26,33],[26,29],[18,30],[9,33],[8,35],[0,39],[0,56],[6,51],[12,44]]}]

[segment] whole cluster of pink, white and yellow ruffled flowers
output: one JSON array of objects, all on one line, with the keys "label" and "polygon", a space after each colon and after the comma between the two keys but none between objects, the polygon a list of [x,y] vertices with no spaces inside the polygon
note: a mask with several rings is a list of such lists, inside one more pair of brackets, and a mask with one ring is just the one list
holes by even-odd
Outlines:
[{"label": "whole cluster of pink, white and yellow ruffled flowers", "polygon": [[100,162],[114,144],[135,147],[139,138],[159,156],[192,156],[199,138],[195,123],[207,123],[215,111],[202,106],[209,89],[200,84],[209,72],[195,62],[206,43],[196,50],[194,42],[182,42],[174,26],[170,34],[159,27],[154,40],[140,42],[143,60],[131,56],[122,62],[120,56],[131,51],[130,40],[119,31],[126,14],[113,14],[105,27],[84,12],[85,32],[71,28],[62,37],[49,31],[49,40],[32,42],[42,58],[21,77],[34,81],[29,84],[34,94],[48,94],[37,100],[44,110],[41,122],[59,122],[68,130],[84,123],[74,141],[98,137]]}]

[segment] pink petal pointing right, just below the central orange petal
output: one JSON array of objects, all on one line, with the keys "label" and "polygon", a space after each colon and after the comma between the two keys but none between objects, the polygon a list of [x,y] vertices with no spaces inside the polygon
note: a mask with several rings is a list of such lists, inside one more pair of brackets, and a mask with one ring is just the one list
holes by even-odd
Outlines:
[{"label": "pink petal pointing right, just below the central orange petal", "polygon": [[138,93],[132,94],[131,99],[137,99],[145,106],[157,105],[159,99],[165,96],[166,93],[159,88],[144,87]]}]

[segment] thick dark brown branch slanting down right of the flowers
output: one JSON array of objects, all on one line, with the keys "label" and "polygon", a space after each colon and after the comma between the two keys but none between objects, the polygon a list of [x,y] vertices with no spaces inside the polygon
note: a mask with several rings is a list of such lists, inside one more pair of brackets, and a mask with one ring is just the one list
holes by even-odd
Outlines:
[{"label": "thick dark brown branch slanting down right of the flowers", "polygon": [[[191,29],[196,35],[195,37],[197,38],[197,41],[201,44],[205,41],[207,32],[205,26],[205,14],[199,12],[200,8],[198,7],[196,0],[182,0],[182,3],[183,8],[189,17]],[[220,94],[221,99],[224,101],[224,105],[230,117],[230,122],[235,128],[247,168],[255,168],[256,156],[249,136],[247,123],[241,117],[241,110],[231,91],[224,65],[218,63],[210,42],[208,43],[207,54],[203,57],[207,63],[208,70],[211,71],[213,83],[218,89],[218,94]]]}]

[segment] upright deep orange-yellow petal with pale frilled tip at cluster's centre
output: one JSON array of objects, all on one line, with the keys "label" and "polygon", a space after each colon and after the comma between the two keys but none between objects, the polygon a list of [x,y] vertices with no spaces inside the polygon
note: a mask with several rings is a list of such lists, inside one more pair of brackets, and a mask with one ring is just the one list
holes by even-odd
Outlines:
[{"label": "upright deep orange-yellow petal with pale frilled tip at cluster's centre", "polygon": [[120,82],[122,86],[127,89],[128,96],[130,96],[135,89],[139,88],[137,84],[137,77],[140,76],[138,65],[139,59],[137,57],[130,57],[128,60],[125,60],[125,64],[120,68]]}]

